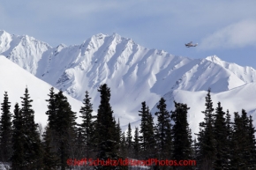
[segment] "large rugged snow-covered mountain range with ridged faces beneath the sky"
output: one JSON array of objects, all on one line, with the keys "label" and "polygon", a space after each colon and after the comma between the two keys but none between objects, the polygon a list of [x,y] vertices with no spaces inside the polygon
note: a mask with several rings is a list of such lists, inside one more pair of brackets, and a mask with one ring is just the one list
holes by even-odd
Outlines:
[{"label": "large rugged snow-covered mountain range with ridged faces beneath the sky", "polygon": [[[0,54],[77,100],[83,100],[87,90],[95,111],[100,100],[97,88],[107,83],[111,89],[111,106],[122,124],[136,124],[141,102],[146,100],[152,108],[162,96],[167,100],[186,102],[189,107],[202,111],[206,95],[202,91],[209,87],[214,96],[226,92],[224,97],[214,98],[215,103],[226,100],[225,109],[240,111],[237,108],[243,107],[250,112],[256,109],[256,105],[248,105],[256,100],[243,100],[250,92],[256,94],[249,87],[256,82],[253,68],[226,63],[215,55],[205,59],[170,55],[163,50],[139,46],[117,33],[99,33],[80,45],[67,47],[60,44],[51,48],[27,35],[17,36],[2,31]],[[237,88],[245,89],[239,93],[241,102],[238,103],[232,97],[237,96]],[[171,109],[173,102],[169,100],[167,104]],[[197,108],[191,108],[189,114],[195,114],[193,109]]]}]

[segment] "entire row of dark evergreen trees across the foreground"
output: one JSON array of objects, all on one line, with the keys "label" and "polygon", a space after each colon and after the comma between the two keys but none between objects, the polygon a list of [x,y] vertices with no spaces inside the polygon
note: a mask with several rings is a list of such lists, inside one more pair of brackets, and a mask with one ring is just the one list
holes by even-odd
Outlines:
[{"label": "entire row of dark evergreen trees across the foreground", "polygon": [[[158,111],[150,113],[146,101],[141,103],[141,122],[132,135],[131,124],[122,132],[119,120],[113,116],[109,104],[110,89],[104,84],[98,89],[101,95],[97,115],[92,115],[93,104],[86,92],[80,108],[81,123],[76,123],[76,113],[63,92],[49,90],[48,123],[41,135],[40,126],[34,122],[33,100],[26,88],[21,106],[15,104],[13,114],[8,93],[4,92],[0,119],[0,162],[10,162],[13,170],[53,169],[128,169],[131,166],[68,165],[84,158],[101,159],[175,159],[196,160],[196,166],[159,166],[151,169],[256,169],[256,142],[252,116],[244,109],[234,113],[231,122],[229,111],[222,111],[221,103],[213,108],[210,90],[206,96],[204,121],[192,140],[192,130],[187,122],[190,109],[174,101],[174,111],[168,111],[161,98]],[[157,123],[154,124],[154,117]],[[12,120],[11,120],[12,119]]]}]

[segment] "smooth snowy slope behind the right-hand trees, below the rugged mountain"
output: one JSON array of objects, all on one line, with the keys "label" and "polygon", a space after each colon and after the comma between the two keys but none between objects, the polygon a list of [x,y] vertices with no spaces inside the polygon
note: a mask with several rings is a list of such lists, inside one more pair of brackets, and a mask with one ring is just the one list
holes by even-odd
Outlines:
[{"label": "smooth snowy slope behind the right-hand trees, below the rugged mountain", "polygon": [[[188,110],[188,122],[190,128],[192,129],[192,136],[194,133],[199,131],[199,123],[204,121],[204,115],[201,113],[206,109],[205,107],[205,97],[207,91],[200,92],[190,92],[184,90],[175,90],[166,93],[163,98],[166,100],[167,109],[175,110],[174,100],[177,102],[187,104],[190,109]],[[211,92],[211,97],[213,100],[214,108],[217,107],[217,103],[220,101],[222,104],[223,111],[230,111],[231,121],[233,122],[233,113],[238,112],[241,114],[242,108],[245,109],[247,114],[252,115],[254,118],[254,126],[256,126],[256,83],[250,83],[246,85],[239,86],[237,88],[231,89],[226,92]],[[151,113],[157,111],[157,104],[152,108]],[[154,116],[154,122],[157,118]],[[133,122],[131,124],[132,129],[139,127],[140,122]],[[123,127],[124,130],[127,126]]]}]

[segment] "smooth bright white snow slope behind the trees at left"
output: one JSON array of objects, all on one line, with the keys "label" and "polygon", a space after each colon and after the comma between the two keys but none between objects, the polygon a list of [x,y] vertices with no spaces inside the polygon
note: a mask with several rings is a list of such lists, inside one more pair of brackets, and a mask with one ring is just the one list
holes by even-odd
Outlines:
[{"label": "smooth bright white snow slope behind the trees at left", "polygon": [[[43,82],[39,78],[35,78],[34,75],[23,70],[19,65],[6,59],[4,55],[0,55],[0,79],[0,102],[2,103],[4,100],[4,92],[8,92],[9,100],[11,101],[11,112],[16,102],[18,102],[19,107],[21,107],[20,97],[24,97],[25,88],[27,86],[30,97],[34,100],[32,106],[34,109],[35,122],[40,122],[45,126],[48,119],[48,116],[45,115],[48,109],[48,102],[45,100],[49,99],[48,94],[51,85]],[[55,90],[55,92],[58,91]],[[79,108],[82,106],[82,103],[68,95],[66,96],[72,105],[72,110],[79,113]]]}]

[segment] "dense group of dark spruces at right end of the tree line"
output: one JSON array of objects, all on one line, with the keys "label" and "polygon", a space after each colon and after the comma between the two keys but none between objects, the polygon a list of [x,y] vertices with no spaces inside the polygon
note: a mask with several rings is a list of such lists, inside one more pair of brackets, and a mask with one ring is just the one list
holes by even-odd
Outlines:
[{"label": "dense group of dark spruces at right end of the tree line", "polygon": [[210,90],[206,96],[204,122],[200,122],[197,141],[194,142],[198,169],[256,169],[256,142],[252,115],[245,109],[234,113],[222,110],[221,102],[213,107]]}]

